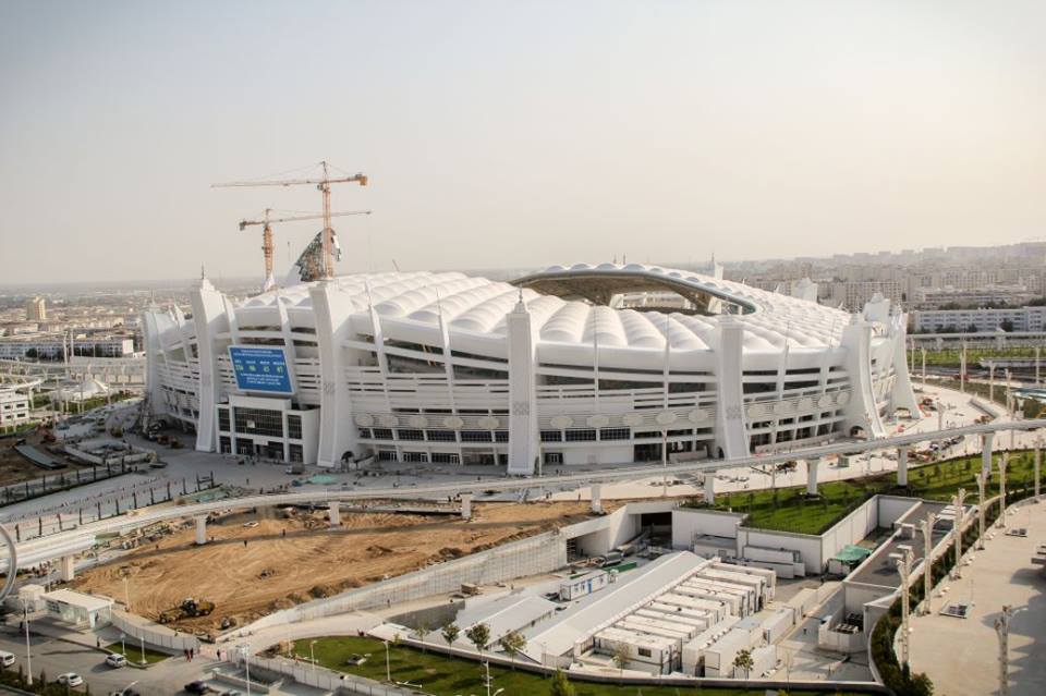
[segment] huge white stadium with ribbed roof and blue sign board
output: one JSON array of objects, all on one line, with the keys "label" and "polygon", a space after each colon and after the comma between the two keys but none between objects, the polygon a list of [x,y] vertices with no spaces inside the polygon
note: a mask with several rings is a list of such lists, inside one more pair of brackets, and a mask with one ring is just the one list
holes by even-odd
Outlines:
[{"label": "huge white stadium with ribbed roof and blue sign board", "polygon": [[191,314],[144,316],[148,403],[198,450],[321,466],[530,475],[881,437],[916,411],[904,317],[815,293],[637,264],[343,276],[243,302],[205,279]]}]

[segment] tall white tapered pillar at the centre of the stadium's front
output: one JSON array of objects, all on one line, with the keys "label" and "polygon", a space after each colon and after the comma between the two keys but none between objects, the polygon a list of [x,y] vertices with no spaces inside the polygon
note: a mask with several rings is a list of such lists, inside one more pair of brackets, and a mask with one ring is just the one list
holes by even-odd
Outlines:
[{"label": "tall white tapered pillar at the centre of the stadium's front", "polygon": [[[509,474],[532,476],[538,452],[534,325],[523,302],[506,315],[509,357]],[[597,391],[598,391],[598,384]]]}]

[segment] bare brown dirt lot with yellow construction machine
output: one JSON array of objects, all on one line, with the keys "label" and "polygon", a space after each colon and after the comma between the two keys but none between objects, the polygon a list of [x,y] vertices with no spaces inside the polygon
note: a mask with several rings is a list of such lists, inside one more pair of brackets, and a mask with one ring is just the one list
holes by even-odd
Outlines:
[{"label": "bare brown dirt lot with yellow construction machine", "polygon": [[[178,625],[211,631],[222,616],[242,625],[294,603],[579,522],[588,503],[488,503],[473,511],[471,522],[342,512],[338,530],[329,529],[320,513],[290,520],[233,515],[208,525],[215,540],[207,546],[193,546],[195,530],[185,528],[85,571],[75,587],[122,599],[121,572],[127,569],[136,613],[155,620],[186,597],[207,599],[216,603],[212,614]],[[257,526],[244,526],[254,520]]]}]

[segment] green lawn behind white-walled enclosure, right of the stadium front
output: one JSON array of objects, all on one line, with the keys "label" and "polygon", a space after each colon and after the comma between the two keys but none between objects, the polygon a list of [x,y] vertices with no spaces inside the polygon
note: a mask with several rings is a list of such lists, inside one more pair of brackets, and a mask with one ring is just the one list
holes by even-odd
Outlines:
[{"label": "green lawn behind white-walled enclosure, right of the stadium front", "polygon": [[[1000,456],[996,454],[995,461],[998,462]],[[822,534],[876,493],[948,501],[961,486],[966,489],[966,500],[974,502],[977,496],[974,475],[980,471],[981,455],[976,454],[933,464],[921,464],[917,467],[912,467],[910,464],[909,486],[905,489],[896,487],[897,474],[891,472],[820,484],[818,486],[820,498],[813,500],[805,497],[805,486],[779,488],[776,493],[771,490],[758,490],[723,494],[716,499],[714,510],[732,509],[734,512],[747,513],[750,527],[799,534]],[[1031,486],[1032,477],[1033,453],[1011,454],[1006,473],[1007,489],[1014,490]],[[998,490],[998,468],[993,467],[992,480],[985,493],[994,496]],[[704,506],[696,500],[688,504],[695,508]]]}]

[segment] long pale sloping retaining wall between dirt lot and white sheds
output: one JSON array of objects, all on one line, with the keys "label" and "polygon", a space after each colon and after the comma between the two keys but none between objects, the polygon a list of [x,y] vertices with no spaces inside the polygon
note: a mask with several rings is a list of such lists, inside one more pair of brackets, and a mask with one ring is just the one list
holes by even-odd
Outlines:
[{"label": "long pale sloping retaining wall between dirt lot and white sheds", "polygon": [[567,565],[567,544],[558,532],[512,541],[487,551],[438,563],[374,585],[316,599],[264,616],[242,628],[257,631],[284,623],[394,605],[450,593],[462,583],[490,585],[525,575],[548,573]]}]

